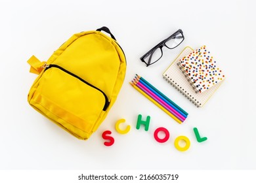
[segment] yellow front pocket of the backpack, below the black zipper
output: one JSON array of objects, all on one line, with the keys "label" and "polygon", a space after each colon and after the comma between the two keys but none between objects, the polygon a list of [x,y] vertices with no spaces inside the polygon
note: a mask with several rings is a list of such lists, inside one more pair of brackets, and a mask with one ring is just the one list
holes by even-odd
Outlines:
[{"label": "yellow front pocket of the backpack, below the black zipper", "polygon": [[30,103],[54,122],[73,129],[71,133],[76,129],[91,133],[109,105],[102,90],[58,65],[45,69]]}]

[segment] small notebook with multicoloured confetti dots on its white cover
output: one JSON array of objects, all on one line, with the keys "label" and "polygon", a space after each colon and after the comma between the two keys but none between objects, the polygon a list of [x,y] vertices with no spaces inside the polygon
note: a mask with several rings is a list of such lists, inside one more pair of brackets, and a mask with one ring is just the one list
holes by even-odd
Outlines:
[{"label": "small notebook with multicoloured confetti dots on its white cover", "polygon": [[177,65],[196,93],[203,93],[224,80],[223,71],[206,46],[190,52]]}]

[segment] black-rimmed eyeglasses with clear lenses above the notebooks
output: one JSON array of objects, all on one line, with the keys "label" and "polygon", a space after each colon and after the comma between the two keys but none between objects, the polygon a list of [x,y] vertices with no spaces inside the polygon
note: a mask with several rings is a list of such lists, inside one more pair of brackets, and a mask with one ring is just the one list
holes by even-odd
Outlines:
[{"label": "black-rimmed eyeglasses with clear lenses above the notebooks", "polygon": [[179,46],[182,41],[184,41],[184,35],[182,30],[179,29],[178,31],[173,33],[173,35],[161,41],[159,44],[154,46],[154,48],[146,52],[146,54],[144,54],[144,56],[142,56],[140,60],[146,63],[146,67],[148,67],[149,65],[156,63],[163,56],[163,46],[166,46],[169,49],[173,49]]}]

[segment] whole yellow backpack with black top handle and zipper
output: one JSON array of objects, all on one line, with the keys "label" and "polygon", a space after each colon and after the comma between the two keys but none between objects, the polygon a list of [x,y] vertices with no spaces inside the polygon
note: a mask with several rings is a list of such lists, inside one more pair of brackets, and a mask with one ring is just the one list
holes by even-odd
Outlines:
[{"label": "whole yellow backpack with black top handle and zipper", "polygon": [[28,63],[39,75],[28,93],[30,105],[83,140],[106,118],[126,71],[125,54],[107,27],[77,33],[48,61],[32,56]]}]

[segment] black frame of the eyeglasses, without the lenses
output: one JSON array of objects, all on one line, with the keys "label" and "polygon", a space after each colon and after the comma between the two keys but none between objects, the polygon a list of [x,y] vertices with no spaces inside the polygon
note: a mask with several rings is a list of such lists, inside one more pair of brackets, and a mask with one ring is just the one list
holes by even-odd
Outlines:
[{"label": "black frame of the eyeglasses, without the lenses", "polygon": [[[163,41],[161,41],[160,43],[158,43],[156,46],[154,46],[154,48],[152,48],[151,50],[149,50],[148,52],[146,52],[146,54],[144,54],[144,56],[142,56],[142,57],[140,58],[140,60],[141,60],[142,62],[146,63],[146,67],[148,67],[149,65],[152,65],[153,63],[156,63],[156,62],[157,62],[158,60],[160,60],[161,57],[163,56],[163,50],[162,50],[163,46],[169,48],[169,47],[167,46],[167,44],[165,44],[165,43],[166,43],[167,41],[171,40],[173,37],[175,37],[175,35],[178,35],[179,33],[181,33],[181,35],[182,35],[182,37],[181,37],[181,38],[182,38],[182,41],[184,41],[185,38],[184,38],[184,35],[183,35],[183,31],[182,31],[181,29],[179,29],[179,30],[177,30],[175,33],[173,33],[171,36],[167,37],[167,39],[164,39]],[[182,42],[182,41],[181,41],[181,42]],[[179,44],[177,44],[177,46],[179,46],[179,45],[181,44],[181,42],[180,42]],[[169,49],[176,48],[177,46],[172,47],[172,48],[169,48]],[[157,59],[156,61],[154,61],[153,63],[151,63],[152,56],[153,56],[154,52],[155,52],[158,48],[160,48],[160,50],[161,50],[161,57],[160,57],[159,59]],[[150,56],[150,58],[148,58],[148,62],[146,62],[145,59],[146,59],[148,56]]]}]

